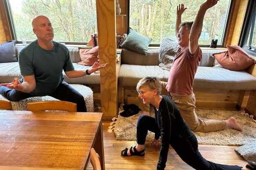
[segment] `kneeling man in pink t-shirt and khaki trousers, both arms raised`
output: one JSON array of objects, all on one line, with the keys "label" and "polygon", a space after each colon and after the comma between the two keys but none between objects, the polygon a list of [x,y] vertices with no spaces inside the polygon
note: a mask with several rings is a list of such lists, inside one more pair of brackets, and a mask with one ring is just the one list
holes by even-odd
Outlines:
[{"label": "kneeling man in pink t-shirt and khaki trousers, both arms raised", "polygon": [[[203,17],[206,10],[217,4],[218,0],[206,0],[196,15],[194,22],[181,23],[181,15],[187,9],[183,4],[177,6],[177,17],[175,34],[180,48],[169,73],[168,82],[162,82],[161,94],[169,95],[178,106],[182,118],[186,121],[192,131],[213,132],[231,127],[242,131],[235,118],[228,120],[213,120],[198,118],[195,112],[196,98],[193,93],[193,82],[199,61],[202,58],[202,51],[198,45],[203,27]],[[140,92],[139,97],[143,103],[147,100],[146,92]],[[149,105],[142,104],[142,114],[149,115]],[[136,118],[136,117],[134,117]]]}]

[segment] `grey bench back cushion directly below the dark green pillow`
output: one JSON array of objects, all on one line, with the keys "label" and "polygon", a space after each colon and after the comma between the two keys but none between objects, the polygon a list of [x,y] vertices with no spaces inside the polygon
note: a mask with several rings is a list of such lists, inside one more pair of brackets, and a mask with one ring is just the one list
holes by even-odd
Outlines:
[{"label": "grey bench back cushion directly below the dark green pillow", "polygon": [[142,66],[158,66],[159,49],[148,49],[147,56],[138,54],[128,49],[122,49],[121,63]]}]

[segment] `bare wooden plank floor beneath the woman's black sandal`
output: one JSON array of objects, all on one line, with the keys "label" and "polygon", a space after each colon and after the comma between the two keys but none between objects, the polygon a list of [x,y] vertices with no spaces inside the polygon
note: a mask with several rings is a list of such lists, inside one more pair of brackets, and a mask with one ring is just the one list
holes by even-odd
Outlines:
[{"label": "bare wooden plank floor beneath the woman's black sandal", "polygon": [[[158,161],[159,149],[146,143],[145,156],[130,156],[123,157],[120,155],[121,150],[125,147],[130,148],[136,145],[136,141],[116,140],[115,133],[107,132],[110,122],[103,122],[103,140],[104,140],[104,154],[105,154],[105,168],[106,170],[155,170]],[[199,145],[199,151],[206,160],[245,167],[247,162],[235,152],[238,146],[215,146],[215,145]],[[184,163],[174,149],[170,147],[166,170],[193,170]],[[88,164],[86,170],[92,170],[91,163]]]}]

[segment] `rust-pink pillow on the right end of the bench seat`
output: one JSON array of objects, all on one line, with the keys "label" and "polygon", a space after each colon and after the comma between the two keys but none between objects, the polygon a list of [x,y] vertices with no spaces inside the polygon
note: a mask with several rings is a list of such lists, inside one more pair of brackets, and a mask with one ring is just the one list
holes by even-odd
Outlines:
[{"label": "rust-pink pillow on the right end of the bench seat", "polygon": [[232,71],[242,71],[256,63],[256,61],[248,56],[238,45],[227,45],[227,48],[228,51],[213,54],[223,68]]}]

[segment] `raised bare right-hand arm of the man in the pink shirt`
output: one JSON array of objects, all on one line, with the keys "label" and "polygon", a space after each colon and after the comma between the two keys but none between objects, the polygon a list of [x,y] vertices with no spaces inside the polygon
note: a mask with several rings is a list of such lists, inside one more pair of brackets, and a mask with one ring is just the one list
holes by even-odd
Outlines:
[{"label": "raised bare right-hand arm of the man in the pink shirt", "polygon": [[198,39],[201,35],[202,28],[203,28],[203,18],[206,13],[206,10],[208,10],[210,7],[213,7],[217,4],[219,0],[206,0],[205,3],[203,3],[199,11],[196,15],[196,19],[194,23],[192,24],[190,34],[189,34],[189,51],[193,55],[196,52],[196,49],[198,47]]}]

